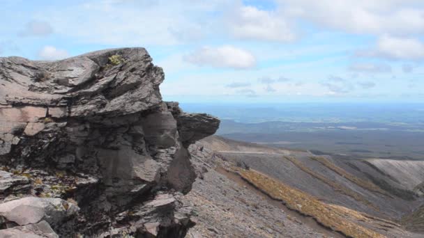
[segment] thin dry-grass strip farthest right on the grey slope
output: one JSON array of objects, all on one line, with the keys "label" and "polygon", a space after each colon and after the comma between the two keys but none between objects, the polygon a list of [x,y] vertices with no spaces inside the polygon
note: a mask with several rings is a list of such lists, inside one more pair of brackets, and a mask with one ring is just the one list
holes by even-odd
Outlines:
[{"label": "thin dry-grass strip farthest right on the grey slope", "polygon": [[333,170],[338,175],[345,177],[347,180],[349,180],[350,182],[353,182],[354,184],[358,185],[359,187],[362,187],[363,189],[367,189],[368,191],[380,193],[382,195],[391,197],[390,194],[388,194],[386,191],[384,191],[383,189],[381,189],[380,187],[378,187],[374,183],[367,181],[367,180],[362,180],[359,177],[351,175],[346,170],[344,170],[344,169],[342,169],[338,166],[335,166],[333,163],[331,163],[331,161],[328,161],[328,159],[326,159],[324,157],[310,157],[310,159],[313,159],[315,161],[319,161],[319,163],[321,163],[322,165]]}]

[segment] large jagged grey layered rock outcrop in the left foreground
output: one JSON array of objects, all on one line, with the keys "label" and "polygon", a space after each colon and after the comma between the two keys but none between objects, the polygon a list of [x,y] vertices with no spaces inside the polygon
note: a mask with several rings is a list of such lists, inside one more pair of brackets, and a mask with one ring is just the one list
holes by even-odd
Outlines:
[{"label": "large jagged grey layered rock outcrop in the left foreground", "polygon": [[[195,180],[187,148],[215,133],[219,120],[162,102],[165,75],[151,61],[144,48],[54,62],[0,58],[0,216],[7,228],[0,232],[185,235],[193,223],[179,197]],[[46,215],[59,205],[62,223],[71,225]],[[32,217],[10,212],[25,206]]]}]

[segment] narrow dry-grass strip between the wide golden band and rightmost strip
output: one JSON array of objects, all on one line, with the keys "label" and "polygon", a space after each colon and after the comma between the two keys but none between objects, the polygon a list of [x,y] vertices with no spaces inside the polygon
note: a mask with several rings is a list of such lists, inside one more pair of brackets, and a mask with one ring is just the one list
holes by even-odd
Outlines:
[{"label": "narrow dry-grass strip between the wide golden band and rightmost strip", "polygon": [[327,177],[325,177],[324,175],[320,175],[319,173],[315,173],[314,171],[312,171],[310,168],[308,168],[307,166],[305,166],[305,164],[303,164],[301,161],[298,161],[298,159],[295,159],[293,157],[285,157],[286,159],[288,159],[289,161],[291,161],[295,166],[297,166],[298,168],[300,168],[301,170],[303,170],[303,172],[308,173],[309,175],[311,175],[312,177],[317,178],[318,180],[321,180],[321,182],[324,182],[324,184],[327,184],[328,186],[332,187],[335,191],[337,191],[338,193],[342,193],[345,194],[346,196],[349,196],[351,198],[354,198],[354,200],[357,200],[360,203],[363,203],[364,205],[367,205],[368,207],[379,211],[379,208],[376,207],[375,205],[373,205],[372,203],[370,203],[370,201],[368,201],[367,199],[365,199],[364,196],[362,196],[359,193],[356,193],[350,189],[347,189],[345,186],[343,186],[342,184],[339,184],[337,182],[334,182],[332,180],[329,180]]}]

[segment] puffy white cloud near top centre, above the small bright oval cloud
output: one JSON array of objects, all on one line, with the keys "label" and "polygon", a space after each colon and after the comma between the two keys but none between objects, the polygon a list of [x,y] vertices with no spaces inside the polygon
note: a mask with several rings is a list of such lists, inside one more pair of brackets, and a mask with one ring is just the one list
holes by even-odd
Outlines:
[{"label": "puffy white cloud near top centre, above the small bright oval cloud", "polygon": [[230,33],[240,39],[279,42],[296,39],[296,34],[282,15],[253,6],[240,6],[230,11],[226,23]]}]

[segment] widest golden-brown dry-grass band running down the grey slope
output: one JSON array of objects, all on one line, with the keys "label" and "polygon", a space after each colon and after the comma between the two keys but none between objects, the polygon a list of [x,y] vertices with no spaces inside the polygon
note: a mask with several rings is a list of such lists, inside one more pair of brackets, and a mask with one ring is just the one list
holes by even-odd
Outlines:
[{"label": "widest golden-brown dry-grass band running down the grey slope", "polygon": [[384,235],[349,220],[370,221],[368,216],[363,216],[360,212],[346,207],[328,205],[307,193],[289,187],[255,170],[243,170],[240,168],[234,168],[234,170],[237,171],[243,179],[250,182],[250,184],[257,187],[257,189],[268,194],[268,196],[271,196],[271,198],[282,200],[290,209],[294,209],[306,216],[312,216],[318,223],[332,230],[341,232],[347,237],[385,237]]}]

